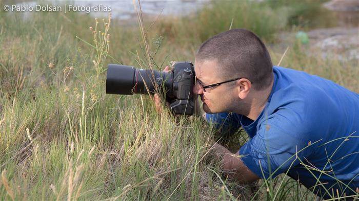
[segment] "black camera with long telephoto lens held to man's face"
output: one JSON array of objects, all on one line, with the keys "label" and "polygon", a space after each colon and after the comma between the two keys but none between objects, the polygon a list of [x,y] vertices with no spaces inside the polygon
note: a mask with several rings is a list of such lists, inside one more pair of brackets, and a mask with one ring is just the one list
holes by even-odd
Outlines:
[{"label": "black camera with long telephoto lens held to man's face", "polygon": [[164,90],[174,114],[192,115],[194,111],[194,66],[190,61],[177,62],[172,72],[135,69],[134,66],[109,64],[106,94],[154,94]]}]

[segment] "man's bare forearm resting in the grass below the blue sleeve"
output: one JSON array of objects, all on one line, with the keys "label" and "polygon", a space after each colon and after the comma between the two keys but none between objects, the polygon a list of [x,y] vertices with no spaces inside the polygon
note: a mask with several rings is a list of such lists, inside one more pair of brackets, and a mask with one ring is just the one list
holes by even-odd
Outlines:
[{"label": "man's bare forearm resting in the grass below the blue sleeve", "polygon": [[221,161],[222,170],[240,183],[252,183],[260,178],[244,165],[240,155],[230,152],[220,144],[213,145],[213,155]]}]

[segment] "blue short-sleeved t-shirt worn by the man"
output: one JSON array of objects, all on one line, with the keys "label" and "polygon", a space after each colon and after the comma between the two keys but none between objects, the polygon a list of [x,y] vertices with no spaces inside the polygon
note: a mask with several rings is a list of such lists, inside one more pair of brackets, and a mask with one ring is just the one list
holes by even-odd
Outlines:
[{"label": "blue short-sleeved t-shirt worn by the man", "polygon": [[[243,163],[261,178],[287,173],[318,196],[359,187],[359,95],[321,77],[273,66],[274,83],[260,116],[206,114],[222,133],[241,126],[250,139]],[[319,182],[317,182],[319,180]],[[315,186],[315,187],[314,187]]]}]

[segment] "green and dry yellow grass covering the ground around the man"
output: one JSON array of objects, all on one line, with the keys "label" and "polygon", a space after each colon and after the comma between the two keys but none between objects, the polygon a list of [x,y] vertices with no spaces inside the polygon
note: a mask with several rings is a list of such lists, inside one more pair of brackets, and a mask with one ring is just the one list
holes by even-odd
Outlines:
[{"label": "green and dry yellow grass covering the ground around the man", "polygon": [[[163,69],[171,60],[193,61],[202,41],[229,27],[275,41],[291,29],[295,9],[214,5],[218,12],[207,7],[195,18],[160,17],[139,28],[114,19],[111,29],[107,20],[96,28],[91,16],[71,12],[1,13],[0,198],[313,200],[287,176],[254,186],[231,181],[209,153],[214,130],[201,118],[158,115],[149,96],[105,95],[107,63]],[[205,23],[209,17],[216,20]],[[293,42],[281,65],[358,92],[357,61],[324,60],[306,49]],[[270,52],[278,63],[283,51]],[[247,140],[243,131],[235,137],[237,147]]]}]

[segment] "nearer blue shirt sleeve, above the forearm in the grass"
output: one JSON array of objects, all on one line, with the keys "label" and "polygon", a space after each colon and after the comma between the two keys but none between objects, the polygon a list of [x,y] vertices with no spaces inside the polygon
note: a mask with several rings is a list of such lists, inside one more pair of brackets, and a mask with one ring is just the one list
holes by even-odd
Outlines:
[{"label": "nearer blue shirt sleeve, above the forearm in the grass", "polygon": [[[256,135],[244,144],[239,153],[243,163],[261,178],[274,178],[278,174],[305,161],[313,151],[308,133],[288,122],[267,120]],[[287,129],[288,128],[288,129]]]}]

